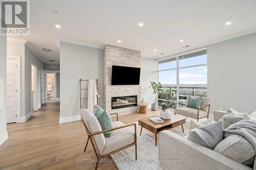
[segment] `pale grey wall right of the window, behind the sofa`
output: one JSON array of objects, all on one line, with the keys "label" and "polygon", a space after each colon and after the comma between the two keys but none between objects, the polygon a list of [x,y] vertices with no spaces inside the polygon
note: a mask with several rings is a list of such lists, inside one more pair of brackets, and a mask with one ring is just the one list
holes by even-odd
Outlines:
[{"label": "pale grey wall right of the window, behind the sofa", "polygon": [[230,107],[256,110],[256,33],[208,45],[208,96],[211,112]]}]

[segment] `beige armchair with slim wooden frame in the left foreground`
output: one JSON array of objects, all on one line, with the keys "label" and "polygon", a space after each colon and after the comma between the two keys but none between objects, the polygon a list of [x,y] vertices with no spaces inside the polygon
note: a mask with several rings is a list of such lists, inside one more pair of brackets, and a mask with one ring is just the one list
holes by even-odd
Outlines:
[{"label": "beige armchair with slim wooden frame in the left foreground", "polygon": [[[97,164],[95,169],[97,169],[98,161],[100,159],[132,147],[133,145],[135,145],[135,159],[137,160],[137,133],[135,123],[124,125],[122,122],[118,121],[118,114],[112,113],[112,115],[117,115],[117,121],[112,123],[112,129],[102,131],[98,119],[92,112],[90,112],[88,109],[80,109],[80,113],[82,123],[84,128],[86,128],[88,135],[84,152],[86,152],[90,139],[94,152],[97,156]],[[134,126],[134,130],[130,126]],[[113,134],[111,137],[104,137],[103,133],[108,131],[113,131]]]}]

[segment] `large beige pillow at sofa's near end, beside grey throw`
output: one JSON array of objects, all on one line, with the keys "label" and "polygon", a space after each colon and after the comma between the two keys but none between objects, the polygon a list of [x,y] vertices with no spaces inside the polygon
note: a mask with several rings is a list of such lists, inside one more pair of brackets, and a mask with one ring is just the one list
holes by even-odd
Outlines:
[{"label": "large beige pillow at sofa's near end, beside grey throw", "polygon": [[243,136],[232,134],[223,139],[214,151],[253,168],[255,150]]}]

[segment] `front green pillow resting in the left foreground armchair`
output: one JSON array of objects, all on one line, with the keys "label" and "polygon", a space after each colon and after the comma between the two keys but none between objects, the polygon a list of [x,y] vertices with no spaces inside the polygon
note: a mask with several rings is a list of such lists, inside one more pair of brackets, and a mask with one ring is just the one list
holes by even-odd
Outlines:
[{"label": "front green pillow resting in the left foreground armchair", "polygon": [[[112,129],[111,115],[108,112],[103,111],[102,113],[95,116],[99,121],[102,131]],[[103,134],[106,137],[110,137],[113,134],[113,132],[109,131],[109,132],[104,132]]]}]

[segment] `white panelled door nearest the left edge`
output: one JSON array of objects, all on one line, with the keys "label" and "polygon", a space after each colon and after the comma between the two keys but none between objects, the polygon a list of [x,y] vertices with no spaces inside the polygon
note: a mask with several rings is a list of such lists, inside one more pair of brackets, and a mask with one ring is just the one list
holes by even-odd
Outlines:
[{"label": "white panelled door nearest the left edge", "polygon": [[17,59],[7,59],[7,123],[17,122]]}]

